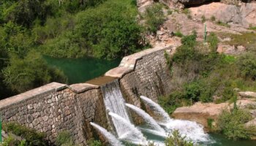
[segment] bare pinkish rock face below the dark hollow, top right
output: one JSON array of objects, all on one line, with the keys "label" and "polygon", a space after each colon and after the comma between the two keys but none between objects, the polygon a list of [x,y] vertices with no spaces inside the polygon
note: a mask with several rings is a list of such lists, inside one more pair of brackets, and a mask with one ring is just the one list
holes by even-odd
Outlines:
[{"label": "bare pinkish rock face below the dark hollow, top right", "polygon": [[192,18],[214,18],[222,23],[237,23],[248,28],[256,26],[256,3],[242,3],[241,6],[213,2],[200,7],[189,8]]}]

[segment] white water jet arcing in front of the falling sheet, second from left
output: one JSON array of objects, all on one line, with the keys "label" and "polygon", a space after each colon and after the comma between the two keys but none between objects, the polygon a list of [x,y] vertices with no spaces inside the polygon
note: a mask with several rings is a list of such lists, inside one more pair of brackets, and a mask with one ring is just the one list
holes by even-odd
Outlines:
[{"label": "white water jet arcing in front of the falling sheet, second from left", "polygon": [[146,138],[143,136],[141,131],[132,125],[129,120],[122,118],[120,115],[113,112],[109,112],[108,114],[114,121],[116,121],[116,123],[119,123],[122,126],[123,131],[125,131],[124,134],[119,136],[119,139],[123,139],[138,145],[145,145],[147,143]]}]

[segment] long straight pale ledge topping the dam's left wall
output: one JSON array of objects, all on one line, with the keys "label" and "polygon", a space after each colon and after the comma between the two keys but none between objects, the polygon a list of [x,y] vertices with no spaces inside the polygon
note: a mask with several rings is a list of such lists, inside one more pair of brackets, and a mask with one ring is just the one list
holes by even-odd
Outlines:
[{"label": "long straight pale ledge topping the dam's left wall", "polygon": [[33,98],[34,96],[39,96],[41,94],[52,92],[52,91],[60,91],[60,90],[63,90],[64,88],[68,88],[68,86],[65,84],[61,84],[59,82],[51,82],[47,85],[43,85],[31,91],[26,91],[24,93],[18,94],[17,96],[12,96],[7,99],[1,100],[0,109],[3,107],[8,107],[12,104],[18,104],[22,101],[26,101],[28,99]]}]

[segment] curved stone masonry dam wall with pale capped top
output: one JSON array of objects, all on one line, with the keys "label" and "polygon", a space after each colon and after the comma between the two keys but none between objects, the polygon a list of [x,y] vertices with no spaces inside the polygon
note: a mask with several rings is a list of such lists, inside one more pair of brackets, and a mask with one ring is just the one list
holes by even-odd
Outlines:
[{"label": "curved stone masonry dam wall with pale capped top", "polygon": [[51,82],[1,100],[2,120],[45,132],[52,142],[60,131],[69,131],[75,144],[86,145],[98,134],[90,122],[111,131],[102,91],[111,82],[117,82],[125,101],[137,107],[141,107],[141,95],[157,101],[158,96],[170,93],[165,53],[172,50],[172,46],[143,50],[124,57],[103,77],[73,85]]}]

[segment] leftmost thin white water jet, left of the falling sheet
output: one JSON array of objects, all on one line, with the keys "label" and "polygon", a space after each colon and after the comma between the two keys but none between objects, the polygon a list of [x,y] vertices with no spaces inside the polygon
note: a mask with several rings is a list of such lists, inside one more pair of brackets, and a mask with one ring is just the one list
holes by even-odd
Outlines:
[{"label": "leftmost thin white water jet, left of the falling sheet", "polygon": [[91,124],[91,126],[96,128],[108,140],[110,145],[122,146],[121,142],[119,142],[118,139],[116,139],[116,137],[113,136],[113,134],[110,134],[105,128],[98,126],[96,123],[91,122],[90,124]]}]

